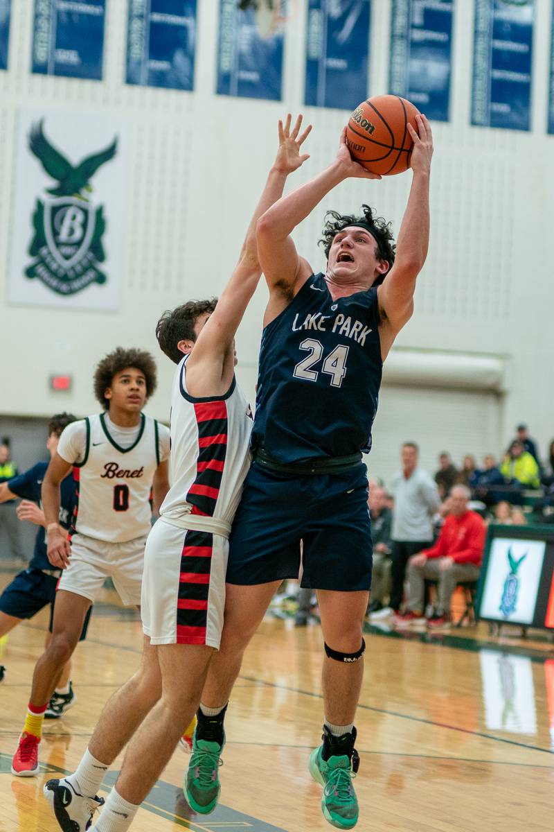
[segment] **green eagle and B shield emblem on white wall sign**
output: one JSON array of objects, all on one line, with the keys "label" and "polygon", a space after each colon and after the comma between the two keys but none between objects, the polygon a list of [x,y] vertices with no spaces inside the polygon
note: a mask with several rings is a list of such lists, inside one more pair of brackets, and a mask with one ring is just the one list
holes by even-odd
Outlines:
[{"label": "green eagle and B shield emblem on white wall sign", "polygon": [[32,126],[29,150],[56,185],[37,199],[32,217],[35,234],[28,250],[36,260],[25,274],[59,295],[74,295],[93,282],[106,281],[98,268],[105,261],[104,209],[91,202],[91,178],[114,158],[117,138],[105,150],[72,165],[47,139],[43,123],[42,119]]}]

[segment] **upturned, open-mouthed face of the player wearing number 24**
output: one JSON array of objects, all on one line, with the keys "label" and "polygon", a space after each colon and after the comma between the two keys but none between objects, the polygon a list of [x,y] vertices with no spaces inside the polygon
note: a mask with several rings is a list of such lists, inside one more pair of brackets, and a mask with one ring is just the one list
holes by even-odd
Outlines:
[{"label": "upturned, open-mouthed face of the player wearing number 24", "polygon": [[345,228],[335,235],[327,274],[341,283],[372,285],[383,269],[383,260],[377,257],[377,242],[363,228]]}]

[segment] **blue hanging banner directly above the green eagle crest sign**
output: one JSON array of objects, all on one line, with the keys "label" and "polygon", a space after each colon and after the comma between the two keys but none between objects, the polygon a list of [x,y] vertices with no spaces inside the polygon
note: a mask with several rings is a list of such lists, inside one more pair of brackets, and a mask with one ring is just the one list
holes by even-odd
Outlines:
[{"label": "blue hanging banner directly above the green eagle crest sign", "polygon": [[32,72],[102,80],[105,0],[35,0]]}]

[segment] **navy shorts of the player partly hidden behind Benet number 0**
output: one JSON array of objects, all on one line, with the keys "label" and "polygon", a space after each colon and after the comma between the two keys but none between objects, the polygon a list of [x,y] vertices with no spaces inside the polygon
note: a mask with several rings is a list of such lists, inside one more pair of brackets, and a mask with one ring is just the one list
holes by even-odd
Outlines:
[{"label": "navy shorts of the player partly hidden behind Benet number 0", "polygon": [[[29,567],[19,572],[0,595],[0,612],[14,618],[28,619],[41,612],[50,604],[50,622],[48,630],[52,631],[54,619],[54,602],[58,578],[45,575],[40,569]],[[91,618],[92,607],[86,613],[85,623],[79,641],[86,639],[86,631]]]}]

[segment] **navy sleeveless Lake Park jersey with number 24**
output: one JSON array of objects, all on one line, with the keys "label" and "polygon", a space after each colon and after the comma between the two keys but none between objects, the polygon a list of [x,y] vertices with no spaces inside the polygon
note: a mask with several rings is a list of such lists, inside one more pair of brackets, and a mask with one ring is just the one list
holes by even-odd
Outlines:
[{"label": "navy sleeveless Lake Park jersey with number 24", "polygon": [[382,366],[377,290],[333,300],[311,275],[263,330],[253,448],[281,463],[369,451]]}]

